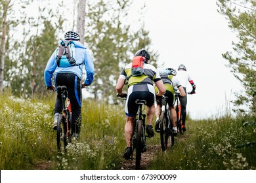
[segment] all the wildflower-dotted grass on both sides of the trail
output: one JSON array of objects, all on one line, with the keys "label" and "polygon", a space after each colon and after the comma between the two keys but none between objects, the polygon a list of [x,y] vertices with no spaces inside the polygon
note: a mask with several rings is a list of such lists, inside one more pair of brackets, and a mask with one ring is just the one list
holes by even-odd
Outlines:
[{"label": "all the wildflower-dotted grass on both sides of the trail", "polygon": [[[85,100],[79,141],[58,154],[52,130],[56,95],[0,95],[0,169],[120,169],[125,149],[123,106]],[[173,149],[156,152],[148,169],[255,169],[255,116],[188,121]],[[147,140],[160,144],[160,137]]]}]

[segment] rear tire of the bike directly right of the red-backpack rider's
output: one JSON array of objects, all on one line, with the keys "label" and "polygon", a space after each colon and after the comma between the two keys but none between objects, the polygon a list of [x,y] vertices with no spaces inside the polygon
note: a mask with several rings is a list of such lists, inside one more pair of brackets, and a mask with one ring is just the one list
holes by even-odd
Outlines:
[{"label": "rear tire of the bike directly right of the red-backpack rider's", "polygon": [[161,149],[163,151],[167,150],[168,136],[167,136],[167,126],[164,111],[160,115],[160,140],[161,140]]}]

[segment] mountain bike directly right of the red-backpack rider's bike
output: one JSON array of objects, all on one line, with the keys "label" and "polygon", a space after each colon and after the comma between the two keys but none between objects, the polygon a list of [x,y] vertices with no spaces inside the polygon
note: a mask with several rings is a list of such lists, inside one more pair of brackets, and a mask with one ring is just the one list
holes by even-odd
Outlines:
[{"label": "mountain bike directly right of the red-backpack rider's bike", "polygon": [[174,145],[174,134],[173,134],[173,123],[171,122],[169,105],[167,103],[168,97],[163,96],[161,99],[161,114],[160,114],[160,140],[161,149],[163,151],[167,150],[168,139],[170,145]]}]

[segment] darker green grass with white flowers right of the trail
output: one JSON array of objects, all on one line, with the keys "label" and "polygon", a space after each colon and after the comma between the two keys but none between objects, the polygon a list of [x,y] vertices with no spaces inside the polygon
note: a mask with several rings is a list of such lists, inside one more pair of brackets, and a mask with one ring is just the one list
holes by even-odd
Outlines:
[{"label": "darker green grass with white flowers right of the trail", "polygon": [[185,135],[172,150],[161,152],[149,169],[255,169],[254,117],[226,115],[215,120],[189,121]]}]

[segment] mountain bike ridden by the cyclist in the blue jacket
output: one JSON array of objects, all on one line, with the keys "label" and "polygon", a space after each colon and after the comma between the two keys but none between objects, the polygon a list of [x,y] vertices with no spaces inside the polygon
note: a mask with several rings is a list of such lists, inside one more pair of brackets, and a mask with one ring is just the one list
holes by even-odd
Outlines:
[{"label": "mountain bike ridden by the cyclist in the blue jacket", "polygon": [[66,99],[68,98],[68,91],[66,86],[57,86],[57,92],[60,93],[62,99],[62,112],[58,116],[57,122],[57,148],[58,152],[61,151],[61,147],[63,146],[64,152],[66,152],[66,146],[68,143],[71,143],[71,122],[72,122],[72,112],[70,100],[65,104]]}]

